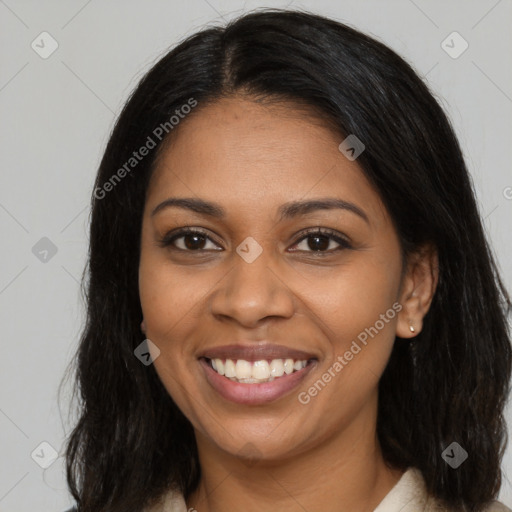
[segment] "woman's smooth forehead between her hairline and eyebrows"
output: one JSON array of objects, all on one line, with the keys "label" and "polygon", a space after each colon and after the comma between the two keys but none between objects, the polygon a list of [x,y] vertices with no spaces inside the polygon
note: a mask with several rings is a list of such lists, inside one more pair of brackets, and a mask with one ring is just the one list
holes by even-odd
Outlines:
[{"label": "woman's smooth forehead between her hairline and eyebrows", "polygon": [[292,103],[226,98],[199,105],[172,133],[148,198],[153,203],[169,195],[196,195],[257,210],[329,195],[359,202],[382,217],[380,198],[357,161],[338,149],[343,138]]}]

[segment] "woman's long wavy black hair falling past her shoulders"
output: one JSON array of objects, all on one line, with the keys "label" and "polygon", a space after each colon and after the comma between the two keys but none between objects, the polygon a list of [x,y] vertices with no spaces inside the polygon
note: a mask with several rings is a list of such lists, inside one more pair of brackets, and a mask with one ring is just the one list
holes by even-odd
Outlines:
[{"label": "woman's long wavy black hair falling past her shoulders", "polygon": [[[384,44],[318,15],[264,9],[207,27],[163,56],[106,146],[82,276],[87,316],[70,363],[78,418],[66,470],[79,512],[142,510],[170,488],[185,497],[197,488],[192,426],[153,366],[134,356],[144,340],[141,221],[157,157],[179,130],[171,116],[191,98],[197,106],[188,116],[236,94],[306,105],[339,133],[356,134],[366,145],[357,162],[404,254],[436,247],[439,281],[424,328],[412,342],[396,338],[379,384],[378,440],[390,467],[418,468],[446,506],[481,510],[501,484],[511,303],[453,128],[412,67]],[[155,129],[165,123],[160,140]],[[156,147],[131,161],[148,136]],[[469,454],[456,470],[441,456],[453,441]]]}]

